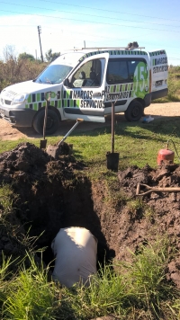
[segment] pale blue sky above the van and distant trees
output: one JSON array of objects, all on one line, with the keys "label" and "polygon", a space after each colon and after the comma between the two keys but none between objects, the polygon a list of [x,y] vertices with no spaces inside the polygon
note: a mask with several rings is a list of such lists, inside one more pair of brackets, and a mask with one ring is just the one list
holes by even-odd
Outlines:
[{"label": "pale blue sky above the van and distant trees", "polygon": [[[62,2],[61,2],[62,1]],[[180,66],[179,0],[0,0],[0,58],[11,48],[40,58],[49,49],[126,47],[165,49]],[[40,37],[38,26],[40,26]]]}]

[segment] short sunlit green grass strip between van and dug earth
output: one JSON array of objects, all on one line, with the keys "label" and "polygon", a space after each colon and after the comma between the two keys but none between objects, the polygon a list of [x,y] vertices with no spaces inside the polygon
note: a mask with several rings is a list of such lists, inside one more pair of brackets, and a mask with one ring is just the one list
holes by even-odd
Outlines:
[{"label": "short sunlit green grass strip between van and dug earth", "polygon": [[[111,135],[110,126],[84,133],[74,131],[65,141],[73,144],[76,159],[85,161],[86,164],[89,164],[98,172],[104,172],[106,169],[106,153],[112,150]],[[177,152],[180,154],[179,137],[180,127],[177,117],[166,117],[166,120],[165,118],[157,118],[148,124],[142,122],[116,124],[114,152],[120,154],[120,169],[134,164],[139,167],[146,164],[157,167],[157,152],[159,149],[166,147],[167,140],[172,139],[175,142]],[[48,145],[55,144],[61,138],[49,137]],[[27,139],[5,141],[5,143],[1,141],[0,152],[11,150],[23,141],[27,141]],[[39,139],[28,139],[28,141],[40,147]],[[171,142],[169,148],[175,150]],[[179,162],[176,152],[175,162]]]}]

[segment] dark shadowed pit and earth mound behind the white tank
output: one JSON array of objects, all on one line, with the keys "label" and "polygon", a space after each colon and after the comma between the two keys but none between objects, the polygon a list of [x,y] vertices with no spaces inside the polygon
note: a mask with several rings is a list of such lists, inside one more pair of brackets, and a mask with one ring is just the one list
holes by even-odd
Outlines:
[{"label": "dark shadowed pit and earth mound behind the white tank", "polygon": [[61,227],[89,229],[98,239],[98,260],[103,262],[104,254],[110,259],[112,251],[94,210],[91,182],[81,174],[85,165],[69,155],[66,143],[60,151],[55,161],[30,143],[20,144],[0,155],[0,181],[12,185],[16,219],[29,236],[37,237],[37,249],[46,247],[46,264],[54,259],[50,244]]}]

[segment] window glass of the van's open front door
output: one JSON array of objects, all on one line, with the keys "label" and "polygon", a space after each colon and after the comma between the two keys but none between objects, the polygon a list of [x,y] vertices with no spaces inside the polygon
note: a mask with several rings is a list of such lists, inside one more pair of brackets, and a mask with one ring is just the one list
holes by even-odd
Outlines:
[{"label": "window glass of the van's open front door", "polygon": [[72,78],[74,88],[94,86],[102,83],[103,59],[93,59],[81,66]]}]

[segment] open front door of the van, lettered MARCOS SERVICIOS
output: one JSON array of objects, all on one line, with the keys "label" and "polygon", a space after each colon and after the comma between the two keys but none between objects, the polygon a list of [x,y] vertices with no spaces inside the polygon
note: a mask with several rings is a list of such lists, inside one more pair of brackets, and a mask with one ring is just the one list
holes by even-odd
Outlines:
[{"label": "open front door of the van, lettered MARCOS SERVICIOS", "polygon": [[109,53],[93,52],[90,57],[84,57],[68,81],[65,80],[62,105],[67,119],[105,122],[104,95],[108,60]]}]

